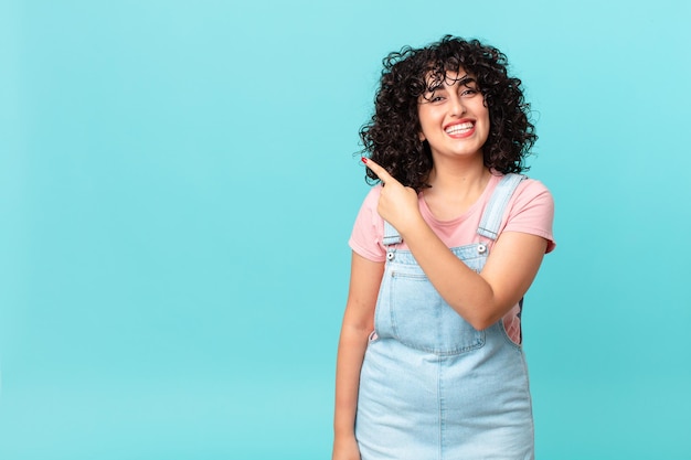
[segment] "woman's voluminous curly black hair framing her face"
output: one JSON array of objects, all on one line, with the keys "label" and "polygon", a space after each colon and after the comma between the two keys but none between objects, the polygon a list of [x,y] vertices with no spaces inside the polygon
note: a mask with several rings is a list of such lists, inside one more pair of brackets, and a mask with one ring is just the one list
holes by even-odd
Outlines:
[{"label": "woman's voluminous curly black hair framing her face", "polygon": [[[488,107],[490,131],[482,147],[485,165],[501,173],[522,172],[538,140],[529,120],[521,81],[507,72],[507,56],[478,40],[445,35],[422,49],[405,46],[384,60],[372,119],[360,129],[362,154],[416,191],[428,188],[432,151],[419,140],[418,99],[460,67],[472,75]],[[365,168],[369,183],[379,178]]]}]

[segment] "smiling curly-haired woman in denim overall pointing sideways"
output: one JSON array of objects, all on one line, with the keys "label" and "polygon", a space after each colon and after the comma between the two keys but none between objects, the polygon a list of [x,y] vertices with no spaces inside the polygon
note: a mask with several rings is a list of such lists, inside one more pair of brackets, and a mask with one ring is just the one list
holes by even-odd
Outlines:
[{"label": "smiling curly-haired woman in denim overall pointing sideways", "polygon": [[553,201],[506,56],[445,36],[384,60],[338,351],[333,460],[532,459],[522,298]]}]

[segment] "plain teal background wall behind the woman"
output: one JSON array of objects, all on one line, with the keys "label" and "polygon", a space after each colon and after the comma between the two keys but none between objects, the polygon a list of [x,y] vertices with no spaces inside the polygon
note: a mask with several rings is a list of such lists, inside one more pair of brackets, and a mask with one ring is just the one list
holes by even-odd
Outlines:
[{"label": "plain teal background wall behind the woman", "polygon": [[382,57],[509,56],[539,459],[691,459],[691,3],[0,1],[0,458],[330,458]]}]

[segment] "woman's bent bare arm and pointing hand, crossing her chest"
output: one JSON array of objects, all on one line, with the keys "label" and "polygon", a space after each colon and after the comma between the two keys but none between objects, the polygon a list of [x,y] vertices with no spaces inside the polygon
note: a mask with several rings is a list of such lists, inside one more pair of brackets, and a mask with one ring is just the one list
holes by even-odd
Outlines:
[{"label": "woman's bent bare arm and pointing hand, crossing her chest", "polygon": [[523,297],[538,274],[546,239],[518,232],[502,233],[485,268],[477,274],[429,228],[413,189],[403,186],[371,160],[366,164],[386,184],[378,212],[398,231],[444,300],[474,328],[490,327]]}]

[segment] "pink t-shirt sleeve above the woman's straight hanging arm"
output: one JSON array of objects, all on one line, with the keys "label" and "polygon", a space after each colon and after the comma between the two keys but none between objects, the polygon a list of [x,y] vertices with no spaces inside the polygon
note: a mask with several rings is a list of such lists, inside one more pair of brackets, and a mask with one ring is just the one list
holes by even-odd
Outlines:
[{"label": "pink t-shirt sleeve above the woman's straight hanging arm", "polygon": [[365,196],[348,242],[352,250],[372,261],[386,260],[386,250],[382,245],[384,221],[376,212],[380,193],[381,185],[378,185]]}]

